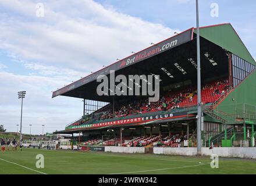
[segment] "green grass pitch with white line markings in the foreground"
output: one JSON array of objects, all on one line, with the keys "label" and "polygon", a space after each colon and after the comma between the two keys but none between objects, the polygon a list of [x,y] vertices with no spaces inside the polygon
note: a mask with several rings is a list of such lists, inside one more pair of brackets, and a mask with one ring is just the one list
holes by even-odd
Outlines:
[{"label": "green grass pitch with white line markings in the foreground", "polygon": [[[44,155],[44,169],[35,167],[37,154]],[[37,171],[46,174],[256,174],[256,160],[219,158],[219,169],[212,169],[210,162],[209,157],[23,148],[23,151],[0,152],[0,174],[40,174]]]}]

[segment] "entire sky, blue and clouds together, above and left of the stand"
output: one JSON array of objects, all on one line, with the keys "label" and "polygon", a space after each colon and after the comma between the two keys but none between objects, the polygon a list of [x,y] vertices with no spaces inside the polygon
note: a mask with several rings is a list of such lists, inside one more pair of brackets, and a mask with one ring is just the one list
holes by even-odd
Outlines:
[{"label": "entire sky, blue and clouds together, above and left of the stand", "polygon": [[[37,3],[44,5],[38,17]],[[218,3],[219,17],[211,17]],[[200,26],[231,23],[256,56],[255,1],[200,1]],[[195,26],[194,0],[131,1],[0,0],[0,124],[16,131],[20,122],[17,91],[26,90],[24,133],[63,130],[82,115],[81,99],[53,90],[90,71],[124,58]]]}]

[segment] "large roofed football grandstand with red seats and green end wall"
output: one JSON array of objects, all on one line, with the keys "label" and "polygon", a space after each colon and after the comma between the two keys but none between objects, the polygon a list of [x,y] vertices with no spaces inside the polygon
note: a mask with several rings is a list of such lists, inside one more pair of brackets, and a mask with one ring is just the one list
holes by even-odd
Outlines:
[{"label": "large roofed football grandstand with red seats and green end wall", "polygon": [[[81,132],[87,140],[115,136],[120,144],[129,137],[177,133],[196,139],[196,37],[197,31],[189,28],[54,91],[52,98],[84,101],[83,116],[55,133]],[[243,144],[237,145],[254,146],[255,60],[230,23],[200,27],[200,45],[204,145],[234,146],[239,139]],[[109,76],[111,70],[116,76],[159,75],[161,101],[152,106],[144,101],[147,96],[97,95],[97,77]]]}]

